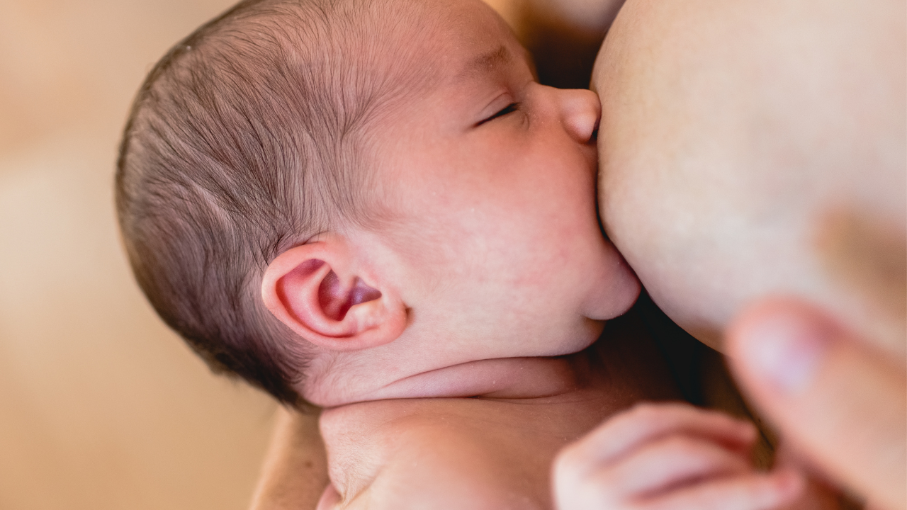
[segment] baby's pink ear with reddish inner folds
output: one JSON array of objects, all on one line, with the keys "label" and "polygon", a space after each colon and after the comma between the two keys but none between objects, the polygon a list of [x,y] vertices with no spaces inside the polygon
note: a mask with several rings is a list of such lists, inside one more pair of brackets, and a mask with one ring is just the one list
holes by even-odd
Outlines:
[{"label": "baby's pink ear with reddish inner folds", "polygon": [[406,327],[404,303],[385,282],[357,272],[346,243],[327,236],[268,264],[261,299],[289,329],[323,348],[359,350],[395,340]]}]

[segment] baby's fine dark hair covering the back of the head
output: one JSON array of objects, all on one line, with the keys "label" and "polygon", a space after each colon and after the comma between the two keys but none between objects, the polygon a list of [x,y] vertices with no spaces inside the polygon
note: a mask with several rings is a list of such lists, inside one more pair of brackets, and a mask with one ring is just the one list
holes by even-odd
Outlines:
[{"label": "baby's fine dark hair covering the back of the head", "polygon": [[261,279],[282,251],[367,223],[366,128],[414,84],[375,71],[374,34],[406,23],[379,3],[241,2],[154,66],[123,134],[116,205],[141,289],[212,370],[289,405],[311,348]]}]

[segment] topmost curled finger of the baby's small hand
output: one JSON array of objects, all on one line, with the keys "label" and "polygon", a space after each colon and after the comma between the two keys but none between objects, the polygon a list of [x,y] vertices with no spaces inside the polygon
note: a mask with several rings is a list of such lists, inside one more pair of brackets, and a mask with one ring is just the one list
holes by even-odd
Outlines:
[{"label": "topmost curled finger of the baby's small hand", "polygon": [[688,404],[639,404],[611,417],[561,456],[581,468],[608,465],[640,445],[668,434],[701,436],[730,449],[746,451],[756,438],[752,424]]}]

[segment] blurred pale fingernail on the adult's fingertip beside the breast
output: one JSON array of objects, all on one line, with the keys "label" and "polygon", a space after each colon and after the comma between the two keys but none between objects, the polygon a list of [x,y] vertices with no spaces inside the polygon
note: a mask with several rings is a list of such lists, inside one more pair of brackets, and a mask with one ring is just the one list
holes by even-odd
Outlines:
[{"label": "blurred pale fingernail on the adult's fingertip beside the breast", "polygon": [[828,348],[830,331],[805,314],[775,313],[742,332],[743,360],[776,390],[796,394],[814,378]]}]

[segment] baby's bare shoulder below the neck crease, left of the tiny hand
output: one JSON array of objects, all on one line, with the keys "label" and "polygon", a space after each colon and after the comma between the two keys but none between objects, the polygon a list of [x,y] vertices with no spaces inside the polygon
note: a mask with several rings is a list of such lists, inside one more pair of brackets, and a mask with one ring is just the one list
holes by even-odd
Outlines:
[{"label": "baby's bare shoulder below the neck crease, left of the tiny hand", "polygon": [[526,435],[510,427],[510,414],[506,404],[474,398],[327,411],[322,433],[337,507],[548,507],[548,463],[560,444],[535,444],[527,456]]}]

